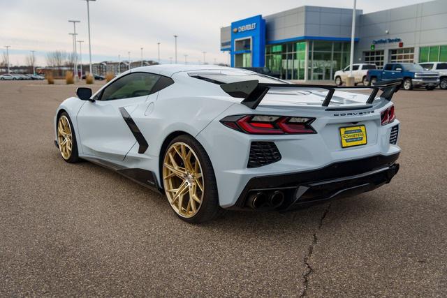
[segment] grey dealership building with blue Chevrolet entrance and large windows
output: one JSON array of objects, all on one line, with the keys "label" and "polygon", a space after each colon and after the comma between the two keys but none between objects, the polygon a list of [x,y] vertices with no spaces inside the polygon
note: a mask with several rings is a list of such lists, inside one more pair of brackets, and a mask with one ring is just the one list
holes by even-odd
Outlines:
[{"label": "grey dealership building with blue Chevrolet entrance and large windows", "polygon": [[[349,66],[352,9],[302,6],[221,28],[233,67],[267,66],[286,80],[333,80]],[[356,10],[354,63],[447,61],[447,1]]]}]

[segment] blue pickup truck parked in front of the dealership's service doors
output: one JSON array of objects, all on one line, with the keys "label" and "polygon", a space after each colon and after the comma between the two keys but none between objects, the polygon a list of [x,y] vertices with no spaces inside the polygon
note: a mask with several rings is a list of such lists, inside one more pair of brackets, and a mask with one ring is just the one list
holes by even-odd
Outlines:
[{"label": "blue pickup truck parked in front of the dealership's service doors", "polygon": [[425,87],[433,90],[439,85],[439,73],[425,70],[415,63],[388,63],[381,70],[368,70],[367,80],[371,84],[386,80],[402,80],[405,90]]}]

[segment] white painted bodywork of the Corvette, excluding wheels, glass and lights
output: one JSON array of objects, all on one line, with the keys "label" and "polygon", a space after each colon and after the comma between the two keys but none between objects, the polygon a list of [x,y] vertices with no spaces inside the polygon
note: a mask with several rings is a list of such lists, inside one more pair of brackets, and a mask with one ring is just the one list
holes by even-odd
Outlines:
[{"label": "white painted bodywork of the Corvette, excluding wheels, glass and lights", "polygon": [[[161,147],[175,133],[187,133],[204,147],[214,167],[221,207],[235,204],[247,182],[258,176],[288,174],[314,170],[339,161],[351,161],[369,156],[398,154],[400,147],[390,144],[390,131],[400,122],[381,126],[381,112],[393,103],[378,98],[372,107],[361,110],[367,95],[336,91],[330,107],[347,107],[357,114],[335,116],[321,106],[327,91],[312,89],[267,94],[252,110],[240,104],[241,98],[228,96],[219,84],[190,77],[188,73],[233,71],[221,66],[146,66],[126,71],[148,72],[171,77],[174,84],[166,89],[137,98],[108,101],[87,101],[72,97],[64,100],[57,115],[66,111],[73,122],[81,158],[99,160],[117,168],[138,168],[154,173],[159,187]],[[246,71],[247,70],[238,70]],[[119,77],[105,84],[112,84]],[[310,90],[310,91],[309,91]],[[144,135],[149,147],[138,153],[138,142],[129,130],[119,108],[124,107]],[[359,107],[356,110],[355,107]],[[315,117],[312,135],[249,135],[232,130],[220,120],[230,115],[263,114],[291,117]],[[54,127],[57,123],[54,117]],[[367,144],[342,148],[339,128],[353,123],[365,124]],[[55,137],[57,140],[57,135]],[[281,160],[262,167],[247,167],[249,148],[253,141],[270,141],[277,145]]]}]

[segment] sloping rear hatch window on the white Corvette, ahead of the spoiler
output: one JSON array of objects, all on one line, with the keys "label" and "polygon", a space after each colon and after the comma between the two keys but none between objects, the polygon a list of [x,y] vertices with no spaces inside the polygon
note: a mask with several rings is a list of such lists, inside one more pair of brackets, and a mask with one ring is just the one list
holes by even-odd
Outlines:
[{"label": "sloping rear hatch window on the white Corvette, ahead of the spoiler", "polygon": [[269,77],[268,75],[261,75],[260,73],[242,70],[219,70],[216,72],[208,71],[206,73],[195,72],[188,73],[188,75],[214,84],[228,84],[251,80],[258,80],[260,83],[265,84],[290,84],[289,82]]}]

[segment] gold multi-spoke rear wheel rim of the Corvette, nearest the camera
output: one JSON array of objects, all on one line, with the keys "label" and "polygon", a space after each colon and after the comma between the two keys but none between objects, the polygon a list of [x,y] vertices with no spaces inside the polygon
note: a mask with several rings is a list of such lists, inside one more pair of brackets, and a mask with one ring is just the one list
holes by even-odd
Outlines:
[{"label": "gold multi-spoke rear wheel rim of the Corvette, nearest the camera", "polygon": [[196,153],[184,142],[172,144],[163,161],[163,185],[170,206],[182,217],[197,214],[203,202],[204,181]]}]

